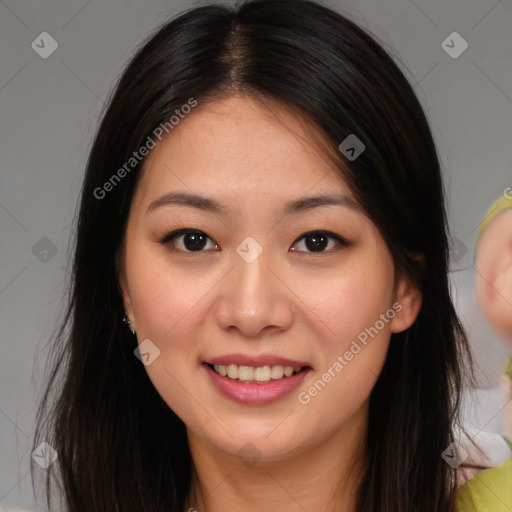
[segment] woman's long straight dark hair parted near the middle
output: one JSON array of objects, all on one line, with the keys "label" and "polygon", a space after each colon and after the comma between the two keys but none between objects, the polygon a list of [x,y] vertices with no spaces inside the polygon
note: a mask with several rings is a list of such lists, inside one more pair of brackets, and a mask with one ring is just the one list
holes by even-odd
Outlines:
[{"label": "woman's long straight dark hair parted near the middle", "polygon": [[[457,480],[441,453],[454,440],[472,362],[449,292],[433,136],[375,36],[308,0],[187,10],[144,41],[113,90],[87,162],[67,305],[37,412],[33,447],[46,441],[58,453],[46,478],[48,507],[53,480],[70,512],[182,512],[187,504],[194,467],[185,425],[134,357],[136,337],[121,321],[117,255],[145,160],[108,197],[95,190],[190,98],[200,108],[233,94],[279,101],[320,129],[395,268],[422,290],[413,325],[391,335],[370,396],[357,511],[453,510]],[[338,150],[350,134],[365,145],[352,161]]]}]

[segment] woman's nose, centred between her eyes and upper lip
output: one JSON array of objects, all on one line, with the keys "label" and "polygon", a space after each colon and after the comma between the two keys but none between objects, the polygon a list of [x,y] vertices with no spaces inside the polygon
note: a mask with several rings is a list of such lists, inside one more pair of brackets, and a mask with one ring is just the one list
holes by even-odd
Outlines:
[{"label": "woman's nose, centred between her eyes and upper lip", "polygon": [[215,307],[222,329],[261,338],[292,324],[294,295],[271,253],[264,248],[250,261],[234,252],[233,268],[219,288]]}]

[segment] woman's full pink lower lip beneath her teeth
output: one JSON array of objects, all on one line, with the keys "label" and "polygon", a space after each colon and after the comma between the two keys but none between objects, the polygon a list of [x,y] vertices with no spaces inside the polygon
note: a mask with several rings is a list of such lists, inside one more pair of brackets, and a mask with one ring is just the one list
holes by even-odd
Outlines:
[{"label": "woman's full pink lower lip beneath her teeth", "polygon": [[300,386],[310,371],[310,368],[306,368],[291,377],[283,377],[282,379],[270,380],[264,384],[256,384],[239,382],[223,377],[215,370],[212,370],[207,364],[203,364],[203,367],[218,391],[235,402],[247,405],[269,404],[289,395]]}]

